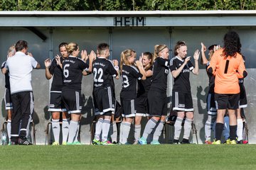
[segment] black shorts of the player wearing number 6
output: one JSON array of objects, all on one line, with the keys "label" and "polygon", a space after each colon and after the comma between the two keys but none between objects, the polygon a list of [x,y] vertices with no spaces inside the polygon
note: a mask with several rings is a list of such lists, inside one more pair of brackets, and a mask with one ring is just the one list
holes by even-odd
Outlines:
[{"label": "black shorts of the player wearing number 6", "polygon": [[65,90],[61,94],[65,108],[69,114],[81,113],[82,95],[81,91]]}]

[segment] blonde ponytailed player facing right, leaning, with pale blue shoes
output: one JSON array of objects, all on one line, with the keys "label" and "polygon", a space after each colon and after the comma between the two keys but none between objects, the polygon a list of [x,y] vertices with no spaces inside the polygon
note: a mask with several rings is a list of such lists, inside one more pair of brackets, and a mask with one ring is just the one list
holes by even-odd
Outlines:
[{"label": "blonde ponytailed player facing right, leaning, with pale blue shoes", "polygon": [[166,45],[155,45],[154,47],[154,70],[149,89],[149,116],[151,119],[146,123],[140,145],[146,145],[146,139],[154,130],[151,144],[159,145],[159,136],[164,128],[164,120],[167,114],[167,75],[169,74],[169,48]]}]

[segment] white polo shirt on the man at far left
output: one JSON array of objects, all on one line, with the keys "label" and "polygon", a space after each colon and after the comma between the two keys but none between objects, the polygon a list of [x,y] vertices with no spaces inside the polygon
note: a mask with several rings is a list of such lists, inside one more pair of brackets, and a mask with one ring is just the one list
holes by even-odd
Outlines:
[{"label": "white polo shirt on the man at far left", "polygon": [[32,91],[31,72],[38,62],[23,52],[16,52],[7,60],[10,75],[11,94],[21,91]]}]

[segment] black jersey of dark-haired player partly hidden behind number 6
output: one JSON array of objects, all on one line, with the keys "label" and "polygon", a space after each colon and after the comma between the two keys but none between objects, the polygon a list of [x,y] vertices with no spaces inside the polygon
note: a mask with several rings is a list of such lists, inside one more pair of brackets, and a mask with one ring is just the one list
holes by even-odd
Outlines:
[{"label": "black jersey of dark-haired player partly hidden behind number 6", "polygon": [[[63,62],[63,58],[60,58],[60,62]],[[56,59],[50,63],[50,74],[53,75],[53,82],[50,87],[50,91],[61,91],[63,88],[63,69],[57,64]]]}]

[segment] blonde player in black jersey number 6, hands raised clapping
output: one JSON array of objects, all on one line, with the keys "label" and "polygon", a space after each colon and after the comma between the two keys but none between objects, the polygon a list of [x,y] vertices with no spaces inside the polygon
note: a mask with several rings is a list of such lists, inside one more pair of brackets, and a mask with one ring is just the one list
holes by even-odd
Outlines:
[{"label": "blonde player in black jersey number 6, hands raised clapping", "polygon": [[62,63],[63,68],[63,90],[61,97],[65,104],[65,108],[70,114],[70,128],[68,132],[68,145],[74,145],[75,135],[78,133],[78,123],[80,121],[82,109],[82,72],[87,69],[92,71],[92,61],[95,59],[95,52],[90,52],[89,65],[86,64],[88,59],[87,52],[81,52],[81,59],[78,58],[80,52],[79,46],[75,42],[67,45],[69,57],[65,58]]}]

